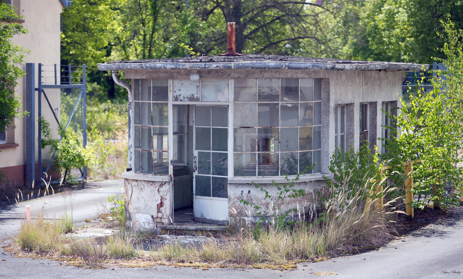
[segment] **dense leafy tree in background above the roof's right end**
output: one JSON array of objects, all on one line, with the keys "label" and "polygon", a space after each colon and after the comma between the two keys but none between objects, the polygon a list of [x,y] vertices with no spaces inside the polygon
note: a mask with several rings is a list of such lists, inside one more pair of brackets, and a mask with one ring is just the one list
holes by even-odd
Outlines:
[{"label": "dense leafy tree in background above the roof's right end", "polygon": [[352,30],[348,58],[372,61],[432,63],[442,55],[441,19],[450,14],[463,27],[463,3],[457,0],[375,0],[359,13],[360,28]]}]

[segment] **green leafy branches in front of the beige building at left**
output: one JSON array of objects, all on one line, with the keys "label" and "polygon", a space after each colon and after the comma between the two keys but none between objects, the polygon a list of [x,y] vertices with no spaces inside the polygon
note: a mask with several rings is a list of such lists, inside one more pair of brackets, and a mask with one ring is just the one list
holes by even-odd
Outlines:
[{"label": "green leafy branches in front of the beige building at left", "polygon": [[27,33],[15,22],[21,18],[14,12],[13,6],[0,3],[0,132],[3,133],[7,127],[14,127],[15,117],[27,115],[26,111],[20,112],[20,97],[14,94],[14,87],[18,85],[17,80],[25,75],[18,65],[24,63],[28,50],[10,41],[14,35]]}]

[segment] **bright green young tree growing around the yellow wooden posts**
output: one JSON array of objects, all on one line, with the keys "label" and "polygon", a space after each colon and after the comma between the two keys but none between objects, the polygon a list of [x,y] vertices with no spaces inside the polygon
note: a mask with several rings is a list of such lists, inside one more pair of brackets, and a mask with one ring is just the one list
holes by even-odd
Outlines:
[{"label": "bright green young tree growing around the yellow wooden posts", "polygon": [[[441,50],[447,59],[438,61],[448,70],[436,72],[432,91],[421,87],[423,76],[418,77],[417,94],[412,94],[409,86],[409,109],[397,117],[390,116],[397,121],[400,137],[383,139],[388,152],[382,156],[393,166],[389,177],[401,189],[401,194],[405,194],[404,164],[419,162],[413,165],[413,192],[420,198],[413,206],[420,208],[430,201],[435,207],[459,204],[456,194],[461,194],[463,186],[462,43],[450,15],[446,22],[441,20],[441,24],[444,32],[438,32],[438,36],[444,41]],[[404,101],[402,106],[406,106]],[[449,188],[457,192],[446,193]]]}]

